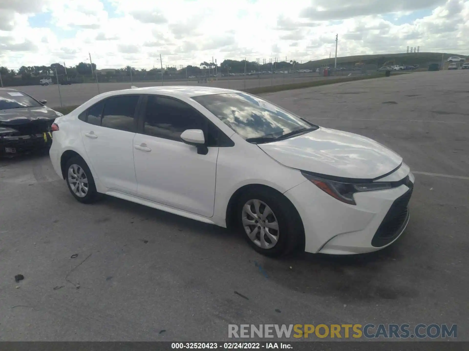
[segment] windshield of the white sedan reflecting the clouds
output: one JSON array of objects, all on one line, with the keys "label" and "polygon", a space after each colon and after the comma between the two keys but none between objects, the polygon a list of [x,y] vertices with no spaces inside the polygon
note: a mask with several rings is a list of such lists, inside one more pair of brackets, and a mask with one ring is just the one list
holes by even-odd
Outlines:
[{"label": "windshield of the white sedan reflecting the clouds", "polygon": [[293,113],[246,93],[201,95],[192,99],[248,141],[278,139],[287,134],[294,136],[295,131],[318,129]]}]

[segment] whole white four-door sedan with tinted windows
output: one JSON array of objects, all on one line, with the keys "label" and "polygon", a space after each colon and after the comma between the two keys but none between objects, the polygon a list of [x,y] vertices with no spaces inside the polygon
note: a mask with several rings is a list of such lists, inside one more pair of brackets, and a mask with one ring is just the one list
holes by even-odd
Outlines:
[{"label": "whole white four-door sedan with tinted windows", "polygon": [[235,226],[269,256],[390,245],[407,226],[414,183],[378,142],[221,88],[95,96],[55,120],[50,157],[82,203],[106,194]]}]

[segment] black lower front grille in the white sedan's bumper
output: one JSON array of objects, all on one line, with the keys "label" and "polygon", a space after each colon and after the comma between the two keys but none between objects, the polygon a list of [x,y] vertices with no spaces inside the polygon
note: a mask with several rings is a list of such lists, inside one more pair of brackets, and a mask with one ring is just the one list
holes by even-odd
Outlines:
[{"label": "black lower front grille in the white sedan's bumper", "polygon": [[371,240],[372,246],[376,248],[385,246],[401,233],[409,217],[408,203],[412,196],[412,191],[413,187],[393,202],[393,205],[389,208],[389,211],[386,213],[385,218]]}]

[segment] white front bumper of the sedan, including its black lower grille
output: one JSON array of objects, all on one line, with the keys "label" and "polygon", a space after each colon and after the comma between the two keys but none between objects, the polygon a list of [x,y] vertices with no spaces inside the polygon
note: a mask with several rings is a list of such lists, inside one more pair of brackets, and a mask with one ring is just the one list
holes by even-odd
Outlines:
[{"label": "white front bumper of the sedan, including its black lower grille", "polygon": [[356,205],[336,200],[310,181],[288,190],[285,195],[303,220],[305,251],[350,255],[393,243],[409,220],[408,201],[415,178],[412,173],[408,177],[408,185],[356,193]]}]

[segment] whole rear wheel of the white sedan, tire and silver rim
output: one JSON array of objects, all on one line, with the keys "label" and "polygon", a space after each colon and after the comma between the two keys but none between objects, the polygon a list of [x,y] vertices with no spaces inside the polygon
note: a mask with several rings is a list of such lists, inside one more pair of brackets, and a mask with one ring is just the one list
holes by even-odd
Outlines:
[{"label": "whole rear wheel of the white sedan, tire and silver rim", "polygon": [[93,175],[86,162],[81,157],[72,157],[65,166],[65,179],[68,190],[78,201],[91,204],[99,199]]}]

